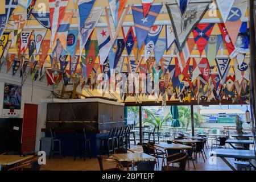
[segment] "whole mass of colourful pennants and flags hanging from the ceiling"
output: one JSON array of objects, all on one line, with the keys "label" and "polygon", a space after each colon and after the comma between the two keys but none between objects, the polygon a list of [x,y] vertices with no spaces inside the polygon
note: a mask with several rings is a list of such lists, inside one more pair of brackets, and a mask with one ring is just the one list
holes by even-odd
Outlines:
[{"label": "whole mass of colourful pennants and flags hanging from the ceiling", "polygon": [[[243,22],[248,8],[246,0],[216,0],[223,23],[199,23],[211,0],[166,3],[171,20],[167,25],[154,25],[163,8],[163,4],[154,5],[154,0],[142,0],[141,6],[131,7],[126,5],[127,0],[109,0],[105,9],[93,7],[96,0],[74,0],[78,29],[70,28],[74,12],[66,11],[68,0],[49,0],[49,13],[43,14],[34,11],[36,2],[28,0],[26,13],[13,14],[18,1],[5,0],[5,14],[0,14],[0,69],[6,63],[7,72],[12,68],[13,76],[19,70],[22,85],[30,75],[34,81],[46,76],[48,85],[57,85],[61,80],[68,84],[75,78],[81,88],[89,85],[94,89],[122,73],[119,77],[122,84],[116,82],[114,87],[131,91],[125,93],[122,89],[123,101],[127,96],[138,98],[141,94],[152,96],[155,101],[162,97],[163,105],[171,98],[181,102],[191,102],[192,98],[198,102],[224,98],[239,103],[249,100],[250,61],[245,56],[249,53],[249,35],[247,22]],[[134,26],[122,26],[129,9]],[[102,13],[106,15],[108,27],[96,27]],[[11,15],[13,31],[5,31]],[[23,30],[31,15],[46,30]],[[94,30],[97,40],[91,39]],[[50,40],[44,39],[47,31]],[[119,32],[123,39],[118,38]],[[160,36],[161,32],[165,32],[165,37]],[[17,48],[18,56],[7,55],[11,46]],[[122,55],[125,49],[127,56]],[[228,56],[217,56],[223,55],[218,52],[224,49]],[[199,52],[199,57],[191,56],[194,50]],[[51,68],[59,63],[61,73],[56,75],[45,68],[47,57]],[[97,80],[100,73],[106,73],[109,80]],[[144,82],[136,87],[128,86],[133,82],[128,73],[138,73],[135,77]],[[156,78],[159,85],[154,82]],[[145,85],[151,85],[152,92]]]}]

